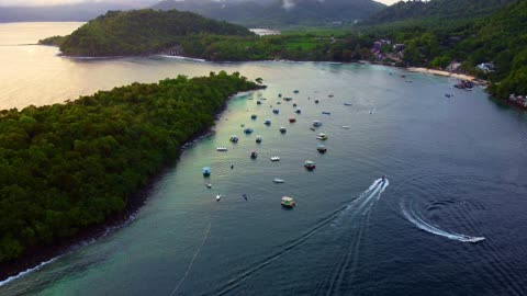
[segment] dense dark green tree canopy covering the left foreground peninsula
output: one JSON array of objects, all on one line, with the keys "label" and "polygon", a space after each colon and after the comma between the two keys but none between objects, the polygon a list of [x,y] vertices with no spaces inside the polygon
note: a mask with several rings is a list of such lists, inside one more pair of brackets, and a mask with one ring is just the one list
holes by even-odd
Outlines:
[{"label": "dense dark green tree canopy covering the left foreground peninsula", "polygon": [[229,95],[255,88],[222,71],[1,111],[0,262],[123,210]]}]

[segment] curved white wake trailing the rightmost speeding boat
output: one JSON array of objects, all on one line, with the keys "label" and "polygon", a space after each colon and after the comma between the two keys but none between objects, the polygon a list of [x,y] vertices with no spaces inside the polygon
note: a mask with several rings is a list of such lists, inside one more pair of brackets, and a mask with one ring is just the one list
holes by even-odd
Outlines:
[{"label": "curved white wake trailing the rightmost speeding boat", "polygon": [[401,201],[401,210],[403,216],[417,228],[427,231],[429,234],[446,237],[449,239],[458,240],[461,242],[480,242],[484,240],[484,237],[472,237],[468,235],[457,234],[453,231],[448,231],[439,228],[438,226],[429,223],[426,220],[424,215],[422,215],[418,210],[414,209],[414,203],[405,203],[404,200]]}]

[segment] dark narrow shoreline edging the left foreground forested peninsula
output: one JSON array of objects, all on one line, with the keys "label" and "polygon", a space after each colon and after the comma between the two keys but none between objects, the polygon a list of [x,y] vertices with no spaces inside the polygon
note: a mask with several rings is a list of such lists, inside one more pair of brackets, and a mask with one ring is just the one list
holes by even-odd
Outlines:
[{"label": "dark narrow shoreline edging the left foreground forested peninsula", "polygon": [[121,228],[125,227],[128,223],[135,219],[136,214],[148,202],[152,190],[161,180],[167,170],[173,168],[179,161],[179,158],[183,150],[191,146],[197,140],[208,137],[213,134],[213,128],[216,122],[220,119],[223,113],[227,110],[228,102],[238,95],[244,93],[250,93],[267,88],[267,86],[258,86],[257,89],[245,92],[237,92],[225,100],[225,103],[214,112],[214,124],[197,132],[190,136],[178,148],[178,155],[168,160],[159,171],[148,178],[146,185],[139,187],[135,193],[127,196],[126,206],[121,213],[110,215],[104,223],[98,225],[91,225],[85,229],[79,230],[71,238],[59,240],[49,246],[33,247],[24,251],[24,254],[16,260],[2,263],[0,265],[0,286],[7,285],[16,278],[25,276],[26,274],[37,271],[48,263],[59,259],[63,255],[67,255],[74,252],[80,247],[90,244],[108,235],[114,234]]}]

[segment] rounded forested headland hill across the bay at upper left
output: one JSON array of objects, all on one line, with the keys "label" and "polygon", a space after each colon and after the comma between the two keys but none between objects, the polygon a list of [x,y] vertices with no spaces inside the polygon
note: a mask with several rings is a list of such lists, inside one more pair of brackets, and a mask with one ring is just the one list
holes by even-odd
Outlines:
[{"label": "rounded forested headland hill across the bay at upper left", "polygon": [[178,37],[254,35],[240,25],[210,20],[177,10],[110,11],[76,30],[60,45],[70,56],[126,56],[155,54],[173,45]]}]

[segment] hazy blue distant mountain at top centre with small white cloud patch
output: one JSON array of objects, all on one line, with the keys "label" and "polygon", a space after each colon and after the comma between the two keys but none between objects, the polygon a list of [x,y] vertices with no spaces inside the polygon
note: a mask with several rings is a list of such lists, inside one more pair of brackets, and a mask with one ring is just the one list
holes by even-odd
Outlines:
[{"label": "hazy blue distant mountain at top centre with small white cloud patch", "polygon": [[192,11],[245,26],[280,27],[352,23],[384,7],[372,0],[165,0],[153,8]]}]

